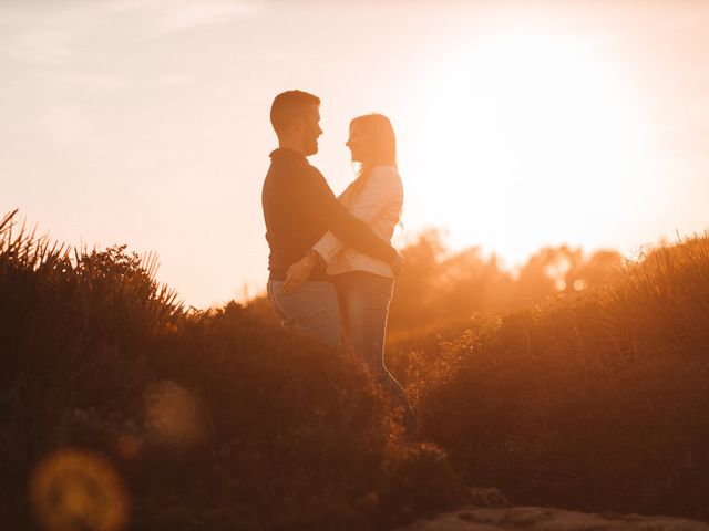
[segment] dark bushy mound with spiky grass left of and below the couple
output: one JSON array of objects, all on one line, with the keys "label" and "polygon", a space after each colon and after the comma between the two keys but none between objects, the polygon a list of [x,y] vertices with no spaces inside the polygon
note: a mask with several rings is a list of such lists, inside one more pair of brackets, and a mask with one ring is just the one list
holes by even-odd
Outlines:
[{"label": "dark bushy mound with spiky grass left of and below the couple", "polygon": [[[10,223],[0,238],[8,529],[32,528],[30,478],[63,448],[109,458],[136,530],[386,528],[463,499],[445,454],[402,444],[345,353],[238,304],[187,313],[123,247],[70,253]],[[72,492],[59,477],[52,510],[111,499],[101,478],[71,473],[65,489],[81,492],[62,504]]]}]

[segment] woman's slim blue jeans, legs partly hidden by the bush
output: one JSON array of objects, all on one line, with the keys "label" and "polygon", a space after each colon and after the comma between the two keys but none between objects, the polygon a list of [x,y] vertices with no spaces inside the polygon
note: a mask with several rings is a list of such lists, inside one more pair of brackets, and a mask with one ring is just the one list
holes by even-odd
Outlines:
[{"label": "woman's slim blue jeans, legs partly hidden by the bush", "polygon": [[352,351],[364,362],[374,382],[391,395],[394,405],[403,406],[409,413],[407,395],[384,365],[387,317],[393,285],[393,279],[363,271],[335,277],[342,329]]}]

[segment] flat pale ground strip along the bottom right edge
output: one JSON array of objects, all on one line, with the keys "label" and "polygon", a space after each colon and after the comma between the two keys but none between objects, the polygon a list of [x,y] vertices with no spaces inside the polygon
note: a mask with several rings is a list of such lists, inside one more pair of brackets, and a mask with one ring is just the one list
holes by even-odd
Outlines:
[{"label": "flat pale ground strip along the bottom right edge", "polygon": [[397,531],[709,531],[709,524],[674,517],[596,514],[545,507],[464,507]]}]

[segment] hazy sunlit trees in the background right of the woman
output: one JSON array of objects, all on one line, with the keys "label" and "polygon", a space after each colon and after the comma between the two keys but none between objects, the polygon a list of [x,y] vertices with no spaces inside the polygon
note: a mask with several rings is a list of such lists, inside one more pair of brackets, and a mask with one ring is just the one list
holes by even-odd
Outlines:
[{"label": "hazy sunlit trees in the background right of the woman", "polygon": [[[424,232],[402,251],[405,274],[397,279],[389,320],[388,364],[399,382],[415,382],[420,360],[471,326],[473,315],[501,315],[548,298],[568,299],[604,285],[621,271],[613,250],[585,254],[568,246],[544,248],[517,271],[500,267],[480,249],[445,250],[436,231]],[[425,365],[425,364],[424,364]]]}]

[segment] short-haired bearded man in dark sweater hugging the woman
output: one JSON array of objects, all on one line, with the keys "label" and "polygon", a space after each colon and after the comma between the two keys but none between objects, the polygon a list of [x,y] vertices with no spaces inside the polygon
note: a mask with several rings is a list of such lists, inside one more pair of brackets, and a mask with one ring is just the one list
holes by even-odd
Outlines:
[{"label": "short-haired bearded man in dark sweater hugging the woman", "polygon": [[[325,262],[312,246],[330,230],[348,246],[373,258],[402,268],[403,259],[351,216],[338,201],[322,174],[306,157],[318,153],[320,100],[301,91],[278,94],[270,108],[270,122],[278,136],[278,148],[264,180],[261,206],[266,221],[268,256],[268,300],[284,326],[295,326],[340,344],[340,311]],[[284,282],[288,268],[308,256],[315,269],[296,292],[287,293]]]}]

